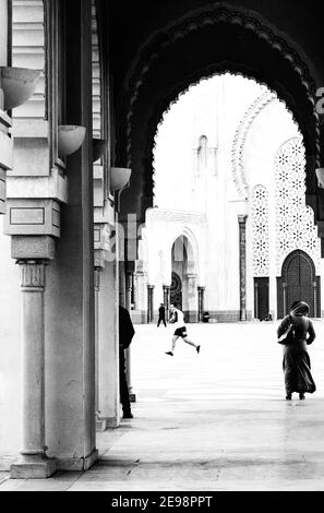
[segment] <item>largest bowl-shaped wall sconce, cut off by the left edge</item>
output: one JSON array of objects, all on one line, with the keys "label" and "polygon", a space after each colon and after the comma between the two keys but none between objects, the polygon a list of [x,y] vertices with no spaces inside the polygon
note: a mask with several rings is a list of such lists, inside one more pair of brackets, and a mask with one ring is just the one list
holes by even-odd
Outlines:
[{"label": "largest bowl-shaped wall sconce, cut off by the left edge", "polygon": [[3,91],[3,110],[24,104],[36,90],[40,72],[27,68],[0,67],[0,88]]}]

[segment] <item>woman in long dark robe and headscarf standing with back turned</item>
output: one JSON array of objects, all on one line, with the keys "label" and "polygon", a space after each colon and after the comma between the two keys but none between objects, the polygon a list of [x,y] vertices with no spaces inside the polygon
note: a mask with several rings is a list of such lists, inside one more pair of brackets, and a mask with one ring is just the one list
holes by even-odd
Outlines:
[{"label": "woman in long dark robe and headscarf standing with back turned", "polygon": [[291,323],[293,330],[293,338],[284,346],[283,369],[287,401],[291,399],[293,392],[298,392],[299,398],[304,399],[305,392],[312,394],[316,390],[307,347],[315,338],[313,323],[308,318],[309,311],[308,303],[296,301],[291,305],[290,314],[285,317],[278,327],[278,338]]}]

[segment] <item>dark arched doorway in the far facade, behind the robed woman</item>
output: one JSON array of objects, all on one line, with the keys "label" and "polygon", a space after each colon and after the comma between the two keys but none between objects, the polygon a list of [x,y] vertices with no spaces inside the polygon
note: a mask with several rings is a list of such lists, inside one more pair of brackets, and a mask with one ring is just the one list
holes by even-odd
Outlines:
[{"label": "dark arched doorway in the far facade, behind the robed woman", "polygon": [[315,274],[312,259],[301,250],[292,251],[283,264],[277,278],[278,318],[287,315],[293,301],[310,306],[311,317],[321,317],[321,278]]}]

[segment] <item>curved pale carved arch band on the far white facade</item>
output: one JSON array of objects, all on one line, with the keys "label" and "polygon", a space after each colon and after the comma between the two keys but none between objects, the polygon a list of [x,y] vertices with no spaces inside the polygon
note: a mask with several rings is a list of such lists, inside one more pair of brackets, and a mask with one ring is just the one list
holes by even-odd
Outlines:
[{"label": "curved pale carved arch band on the far white facade", "polygon": [[232,177],[238,194],[242,200],[248,200],[249,198],[249,184],[243,168],[243,148],[245,140],[256,116],[276,98],[277,95],[271,91],[266,91],[260,95],[245,111],[235,133],[231,148]]}]

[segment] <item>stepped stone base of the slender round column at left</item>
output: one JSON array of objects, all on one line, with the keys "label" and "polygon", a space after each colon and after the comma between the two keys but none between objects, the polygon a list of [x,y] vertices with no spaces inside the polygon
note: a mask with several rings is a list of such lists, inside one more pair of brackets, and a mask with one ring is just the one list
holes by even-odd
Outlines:
[{"label": "stepped stone base of the slender round column at left", "polygon": [[46,479],[55,474],[57,462],[55,458],[41,454],[24,456],[10,467],[11,479]]}]

